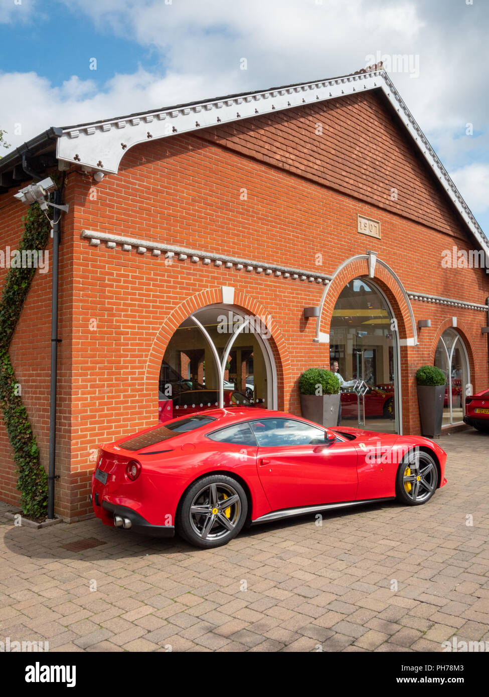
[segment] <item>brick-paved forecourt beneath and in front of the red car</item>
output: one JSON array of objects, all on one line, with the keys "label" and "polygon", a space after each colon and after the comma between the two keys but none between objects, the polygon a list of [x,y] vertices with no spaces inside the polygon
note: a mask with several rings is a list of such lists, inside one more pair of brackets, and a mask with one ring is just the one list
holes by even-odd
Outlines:
[{"label": "brick-paved forecourt beneath and in front of the red car", "polygon": [[[95,519],[15,528],[0,505],[0,641],[49,641],[50,651],[435,652],[453,636],[489,641],[489,436],[440,443],[449,484],[427,505],[326,514],[321,527],[314,516],[292,519],[213,551]],[[106,544],[63,547],[91,537]]]}]

